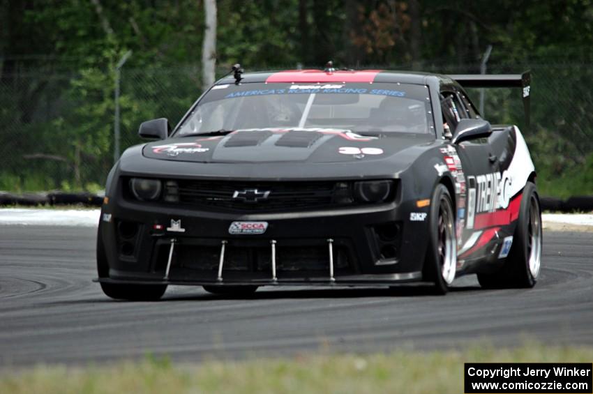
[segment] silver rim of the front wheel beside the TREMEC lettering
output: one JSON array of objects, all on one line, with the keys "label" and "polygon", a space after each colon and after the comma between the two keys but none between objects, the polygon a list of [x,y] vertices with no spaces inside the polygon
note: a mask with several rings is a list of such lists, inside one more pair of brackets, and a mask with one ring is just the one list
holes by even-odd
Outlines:
[{"label": "silver rim of the front wheel beside the TREMEC lettering", "polygon": [[453,228],[453,211],[451,204],[442,198],[439,208],[439,219],[437,224],[439,264],[441,275],[447,285],[451,285],[455,279],[455,270],[457,266],[457,253],[455,250],[456,239]]}]

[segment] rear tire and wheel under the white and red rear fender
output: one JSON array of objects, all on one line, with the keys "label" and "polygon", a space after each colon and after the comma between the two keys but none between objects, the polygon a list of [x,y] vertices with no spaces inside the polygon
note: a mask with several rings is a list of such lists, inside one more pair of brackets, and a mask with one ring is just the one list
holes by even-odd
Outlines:
[{"label": "rear tire and wheel under the white and red rear fender", "polygon": [[535,184],[527,182],[519,209],[513,245],[504,265],[496,273],[479,273],[486,289],[534,287],[541,268],[541,208]]}]

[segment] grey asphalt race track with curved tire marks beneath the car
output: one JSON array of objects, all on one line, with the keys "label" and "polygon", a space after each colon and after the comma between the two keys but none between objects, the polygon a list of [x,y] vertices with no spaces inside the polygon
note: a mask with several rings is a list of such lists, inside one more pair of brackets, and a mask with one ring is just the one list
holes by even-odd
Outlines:
[{"label": "grey asphalt race track with curved tire marks beneath the car", "polygon": [[546,232],[534,289],[447,296],[418,289],[264,288],[224,298],[170,287],[163,301],[112,301],[92,283],[89,227],[0,226],[0,368],[101,363],[146,354],[176,361],[307,351],[593,345],[593,232]]}]

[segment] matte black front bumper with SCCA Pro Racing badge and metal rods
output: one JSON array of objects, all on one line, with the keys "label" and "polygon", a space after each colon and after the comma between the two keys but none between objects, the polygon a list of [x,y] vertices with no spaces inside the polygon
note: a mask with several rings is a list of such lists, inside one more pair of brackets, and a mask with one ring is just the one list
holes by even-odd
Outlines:
[{"label": "matte black front bumper with SCCA Pro Racing badge and metal rods", "polygon": [[[174,285],[391,285],[422,280],[426,234],[406,204],[237,214],[119,198],[103,206],[100,282]],[[267,222],[230,234],[232,222]],[[174,229],[179,223],[179,231]],[[183,230],[183,232],[181,232]]]}]

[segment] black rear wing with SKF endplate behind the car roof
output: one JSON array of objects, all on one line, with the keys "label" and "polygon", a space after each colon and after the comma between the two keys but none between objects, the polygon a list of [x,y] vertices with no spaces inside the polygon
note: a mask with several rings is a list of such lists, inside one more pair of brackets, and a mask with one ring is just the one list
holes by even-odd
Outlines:
[{"label": "black rear wing with SKF endplate behind the car roof", "polygon": [[525,71],[523,74],[500,74],[500,75],[449,75],[464,88],[521,88],[523,89],[523,109],[525,110],[525,122],[530,125],[530,84],[531,73]]}]

